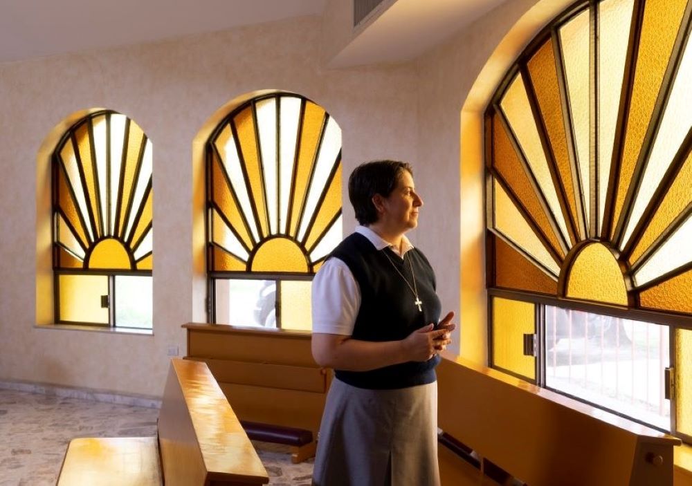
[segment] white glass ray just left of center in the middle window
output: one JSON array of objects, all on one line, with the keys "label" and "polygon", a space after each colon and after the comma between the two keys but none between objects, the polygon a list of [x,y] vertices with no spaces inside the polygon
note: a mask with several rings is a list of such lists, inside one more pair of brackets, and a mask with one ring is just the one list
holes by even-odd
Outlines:
[{"label": "white glass ray just left of center in the middle window", "polygon": [[276,174],[276,98],[257,103],[257,128],[264,169],[264,194],[269,217],[269,232],[277,232]]}]

